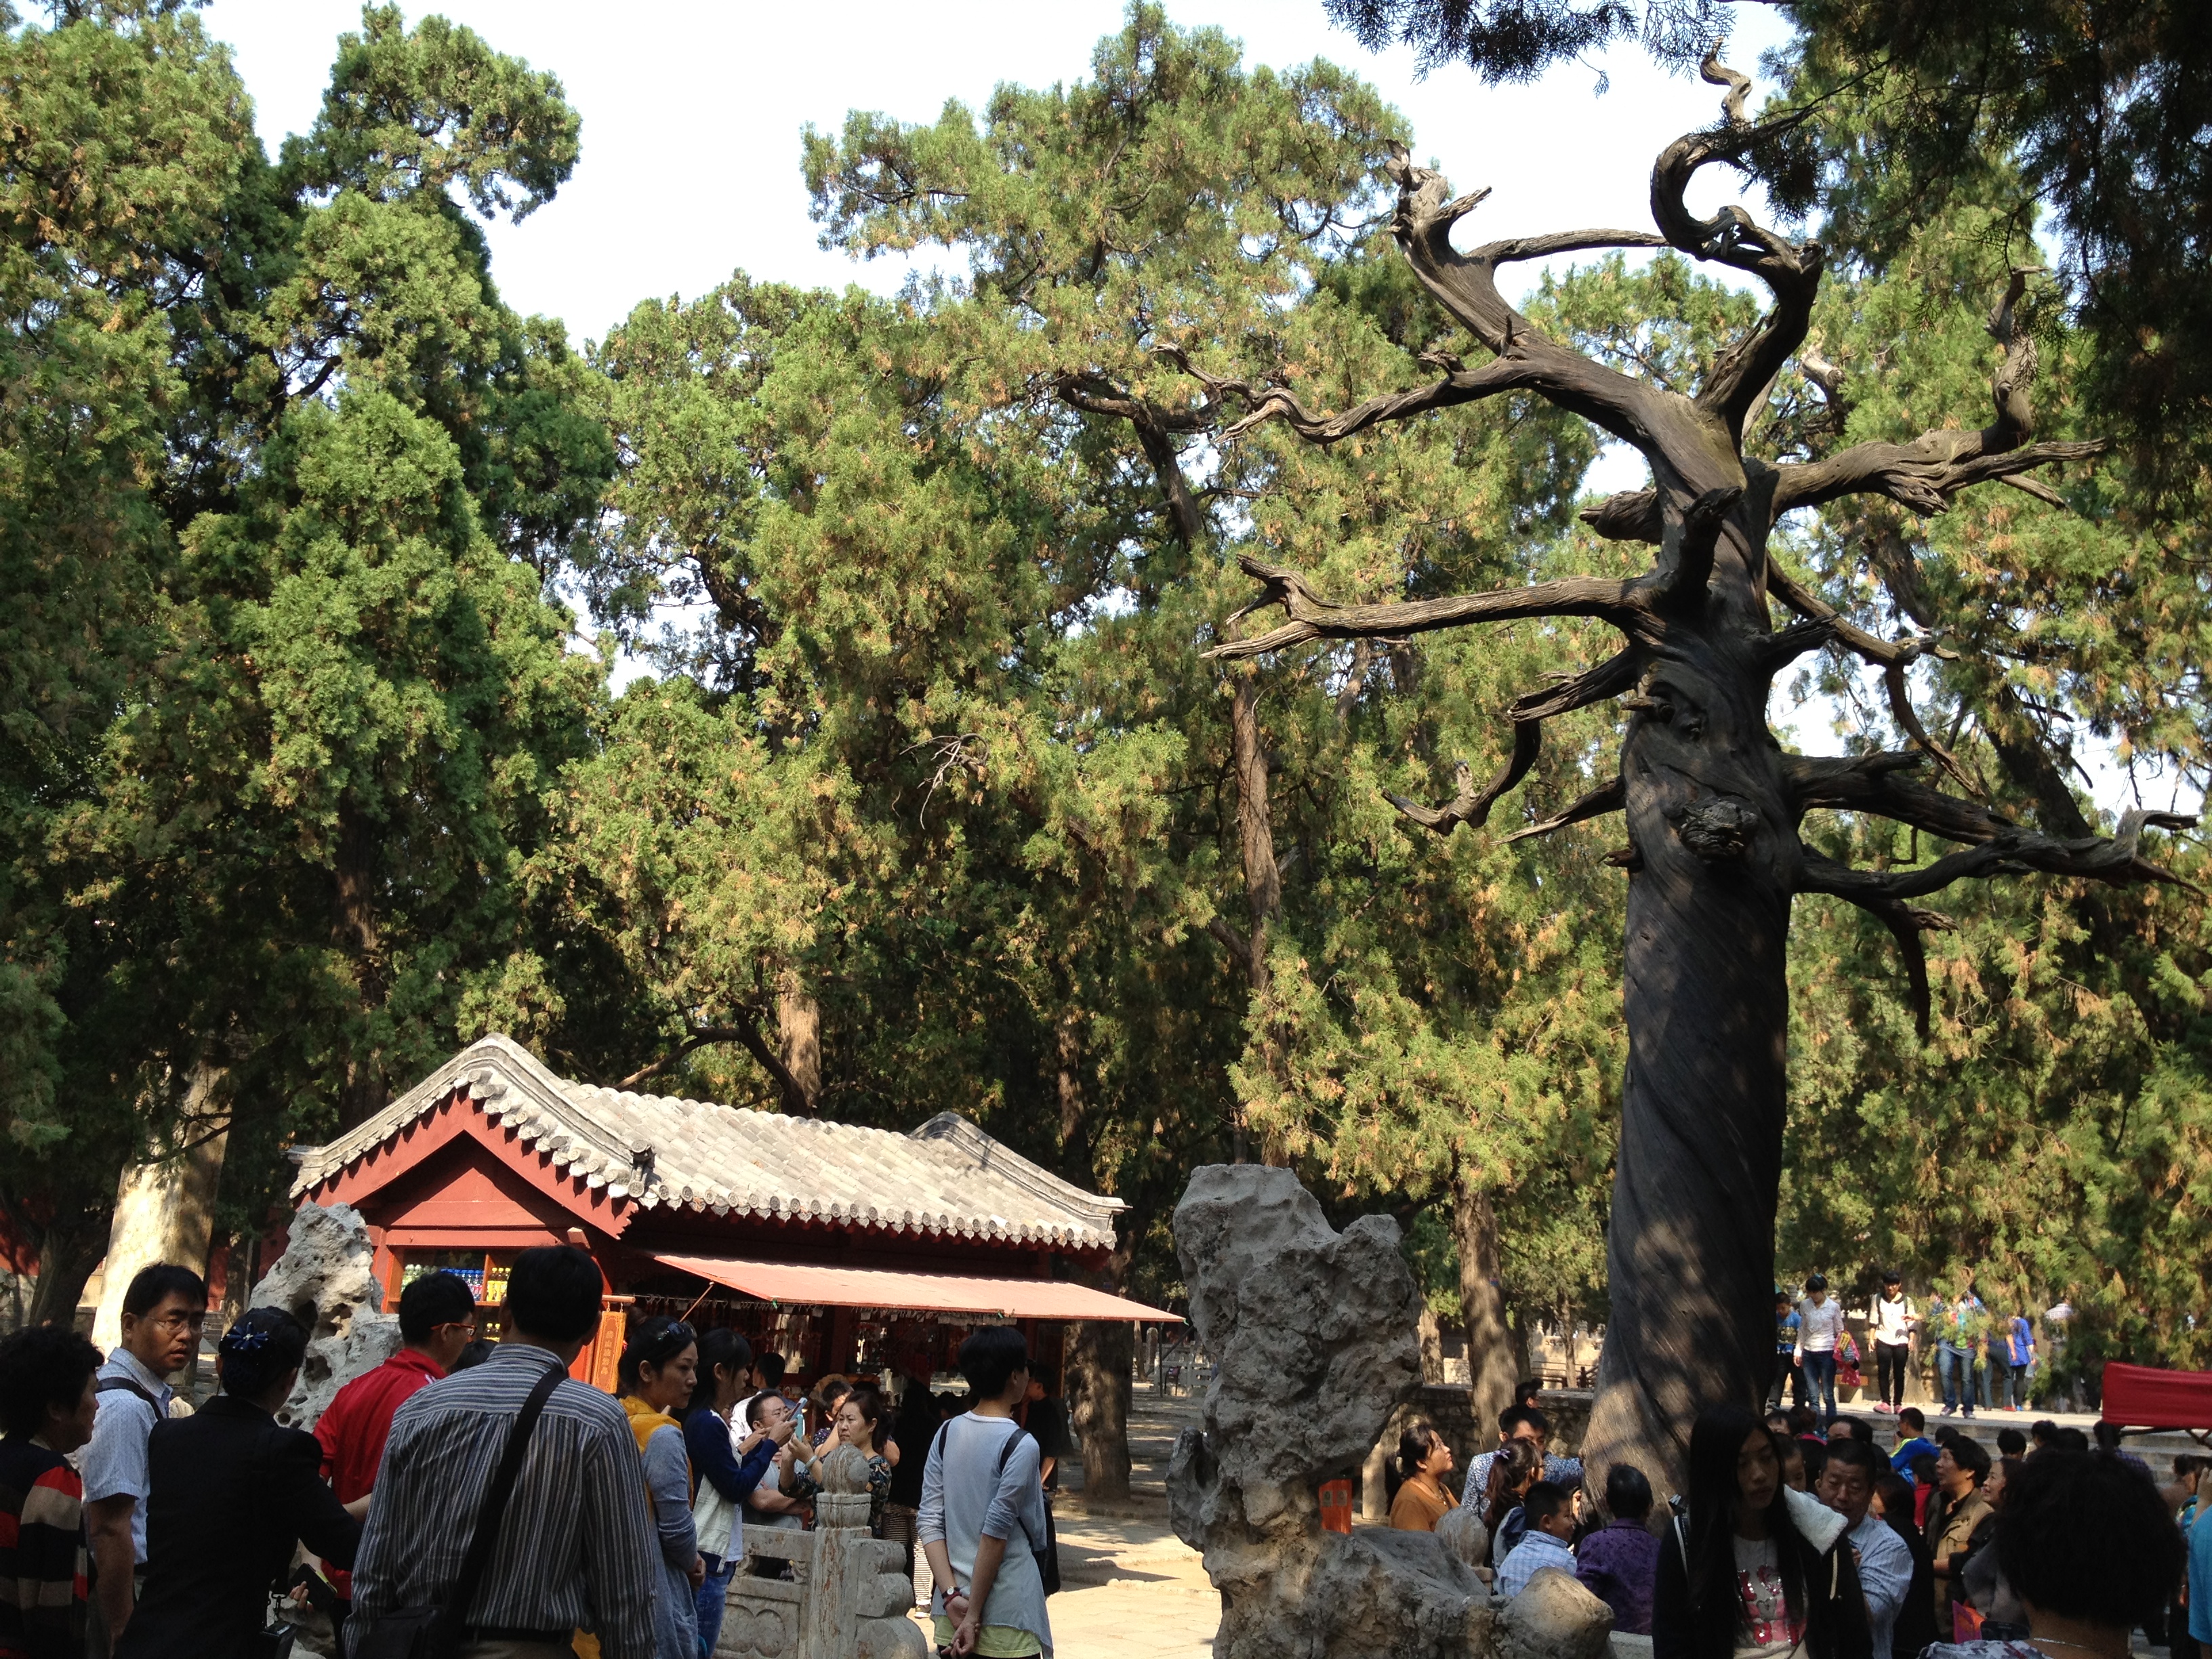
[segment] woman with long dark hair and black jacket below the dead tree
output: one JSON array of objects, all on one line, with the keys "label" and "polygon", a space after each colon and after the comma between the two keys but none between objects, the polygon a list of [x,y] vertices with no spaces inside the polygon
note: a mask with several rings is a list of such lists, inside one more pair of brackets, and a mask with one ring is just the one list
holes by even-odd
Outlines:
[{"label": "woman with long dark hair and black jacket below the dead tree", "polygon": [[1655,1659],[1871,1659],[1845,1522],[1783,1486],[1774,1431],[1739,1405],[1690,1431],[1688,1513],[1659,1540]]}]

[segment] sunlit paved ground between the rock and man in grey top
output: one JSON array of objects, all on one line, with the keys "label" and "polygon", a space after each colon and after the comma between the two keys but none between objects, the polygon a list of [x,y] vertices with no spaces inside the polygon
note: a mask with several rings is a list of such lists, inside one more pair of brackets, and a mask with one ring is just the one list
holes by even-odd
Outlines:
[{"label": "sunlit paved ground between the rock and man in grey top", "polygon": [[[1210,1659],[1221,1597],[1197,1551],[1168,1531],[1168,1453],[1186,1422],[1197,1422],[1194,1400],[1152,1400],[1139,1385],[1128,1425],[1130,1500],[1086,1504],[1082,1491],[1055,1500],[1055,1659]],[[1079,1467],[1073,1473],[1079,1478]],[[927,1597],[929,1568],[918,1577]]]}]

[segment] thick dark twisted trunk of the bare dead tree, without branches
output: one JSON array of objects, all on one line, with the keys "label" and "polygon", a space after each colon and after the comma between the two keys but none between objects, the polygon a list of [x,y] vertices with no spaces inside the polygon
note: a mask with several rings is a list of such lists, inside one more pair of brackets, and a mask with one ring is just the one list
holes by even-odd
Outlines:
[{"label": "thick dark twisted trunk of the bare dead tree, without branches", "polygon": [[[1747,602],[1741,571],[1723,562],[1717,599],[1734,573]],[[1767,686],[1734,641],[1670,628],[1646,677],[1657,708],[1637,712],[1621,752],[1628,1077],[1606,1234],[1613,1316],[1584,1442],[1597,1482],[1628,1458],[1679,1489],[1699,1409],[1750,1405],[1772,1363],[1801,854]]]}]

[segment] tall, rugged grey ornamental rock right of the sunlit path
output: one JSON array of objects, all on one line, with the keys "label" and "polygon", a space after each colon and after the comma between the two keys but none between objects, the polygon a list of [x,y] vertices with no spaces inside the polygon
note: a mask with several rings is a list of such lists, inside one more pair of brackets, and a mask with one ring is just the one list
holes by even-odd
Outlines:
[{"label": "tall, rugged grey ornamental rock right of the sunlit path", "polygon": [[1420,1385],[1420,1294],[1398,1225],[1329,1228],[1290,1170],[1206,1166],[1175,1210],[1190,1323],[1217,1356],[1203,1429],[1168,1467],[1168,1513],[1221,1590],[1214,1659],[1467,1659],[1489,1590],[1433,1533],[1321,1526]]}]

